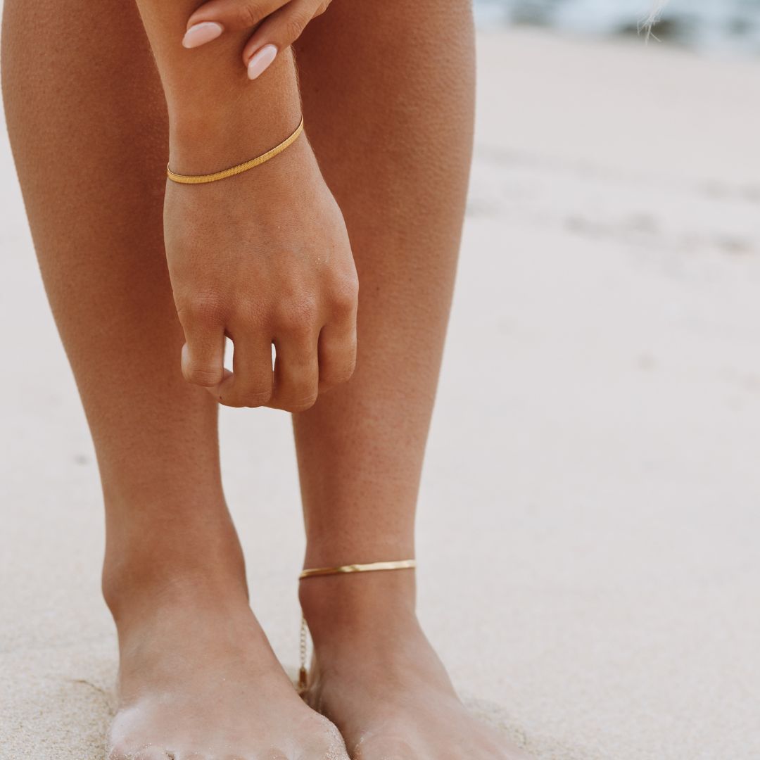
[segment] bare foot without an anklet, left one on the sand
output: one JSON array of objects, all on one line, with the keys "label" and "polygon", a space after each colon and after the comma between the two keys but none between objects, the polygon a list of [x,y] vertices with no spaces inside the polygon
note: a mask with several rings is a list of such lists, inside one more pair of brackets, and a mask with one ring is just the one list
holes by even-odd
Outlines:
[{"label": "bare foot without an anklet, left one on the sand", "polygon": [[347,760],[336,728],[277,662],[241,578],[196,573],[114,596],[109,760]]}]

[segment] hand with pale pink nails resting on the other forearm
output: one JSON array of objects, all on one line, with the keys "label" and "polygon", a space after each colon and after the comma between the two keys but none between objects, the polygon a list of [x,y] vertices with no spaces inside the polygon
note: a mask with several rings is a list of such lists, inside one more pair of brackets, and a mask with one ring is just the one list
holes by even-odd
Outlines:
[{"label": "hand with pale pink nails resting on the other forearm", "polygon": [[249,78],[255,79],[328,5],[330,0],[209,0],[188,19],[182,44],[199,47],[225,31],[255,29],[242,52]]}]

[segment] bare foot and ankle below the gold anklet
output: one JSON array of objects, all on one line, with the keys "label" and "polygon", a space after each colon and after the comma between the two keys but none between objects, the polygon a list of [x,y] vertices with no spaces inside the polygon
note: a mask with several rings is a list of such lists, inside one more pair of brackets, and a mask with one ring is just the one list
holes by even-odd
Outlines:
[{"label": "bare foot and ankle below the gold anklet", "polygon": [[527,760],[470,715],[414,614],[410,571],[301,583],[315,642],[308,701],[353,760]]}]

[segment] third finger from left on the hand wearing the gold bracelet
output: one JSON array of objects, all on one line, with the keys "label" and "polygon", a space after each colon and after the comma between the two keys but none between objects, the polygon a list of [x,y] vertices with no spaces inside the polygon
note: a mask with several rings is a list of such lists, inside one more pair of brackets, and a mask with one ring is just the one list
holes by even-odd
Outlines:
[{"label": "third finger from left on the hand wearing the gold bracelet", "polygon": [[302,412],[314,405],[319,391],[317,336],[277,341],[274,391],[268,407]]}]

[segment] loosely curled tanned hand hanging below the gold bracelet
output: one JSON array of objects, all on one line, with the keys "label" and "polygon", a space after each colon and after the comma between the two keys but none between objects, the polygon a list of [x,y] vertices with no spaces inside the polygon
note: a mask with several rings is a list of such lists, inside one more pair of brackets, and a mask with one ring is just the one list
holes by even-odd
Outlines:
[{"label": "loosely curled tanned hand hanging below the gold bracelet", "polygon": [[226,406],[297,412],[350,378],[356,269],[306,135],[238,176],[167,182],[164,233],[188,382]]}]

